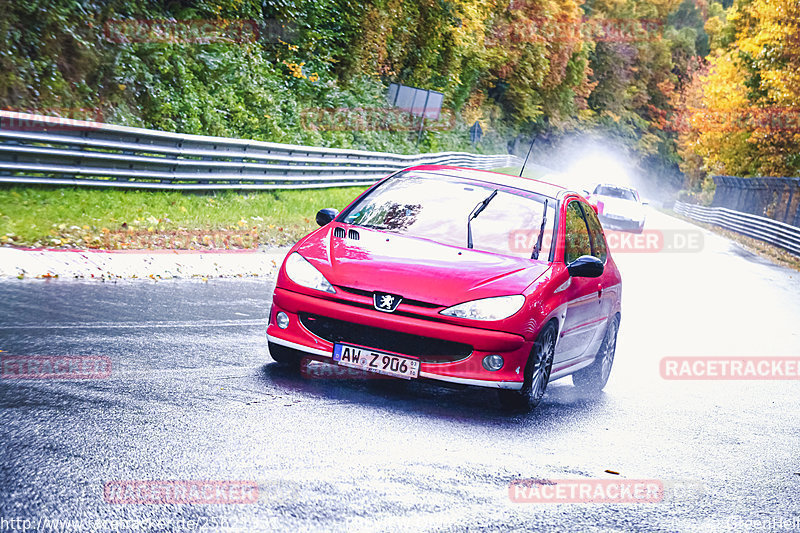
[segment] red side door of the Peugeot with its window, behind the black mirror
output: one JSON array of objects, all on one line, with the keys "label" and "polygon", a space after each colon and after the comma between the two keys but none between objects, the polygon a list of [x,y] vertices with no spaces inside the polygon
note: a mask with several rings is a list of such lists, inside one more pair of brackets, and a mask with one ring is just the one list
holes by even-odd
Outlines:
[{"label": "red side door of the Peugeot with its window, behind the black mirror", "polygon": [[[582,255],[593,255],[582,205],[583,202],[572,199],[566,206],[563,238],[564,263],[567,265]],[[585,207],[591,210],[588,204]],[[581,358],[592,346],[603,316],[598,287],[598,278],[569,278],[567,287],[563,289],[566,309],[556,346],[556,362]]]}]

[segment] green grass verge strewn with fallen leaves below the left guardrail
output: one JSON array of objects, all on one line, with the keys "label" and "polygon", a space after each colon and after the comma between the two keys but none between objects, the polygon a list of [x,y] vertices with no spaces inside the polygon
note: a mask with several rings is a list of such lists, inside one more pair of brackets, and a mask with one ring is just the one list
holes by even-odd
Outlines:
[{"label": "green grass verge strewn with fallen leaves below the left guardrail", "polygon": [[0,242],[97,249],[280,246],[317,227],[364,188],[185,193],[11,186],[0,188]]}]

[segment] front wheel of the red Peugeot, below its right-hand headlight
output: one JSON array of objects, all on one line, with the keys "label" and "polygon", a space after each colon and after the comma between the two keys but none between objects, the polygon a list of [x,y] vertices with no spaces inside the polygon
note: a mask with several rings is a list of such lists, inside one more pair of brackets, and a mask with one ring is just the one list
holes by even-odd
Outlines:
[{"label": "front wheel of the red Peugeot, below its right-hand headlight", "polygon": [[528,363],[525,365],[525,381],[522,389],[497,391],[503,410],[527,413],[542,401],[553,368],[557,335],[558,328],[552,321],[539,332],[536,342],[533,343]]}]

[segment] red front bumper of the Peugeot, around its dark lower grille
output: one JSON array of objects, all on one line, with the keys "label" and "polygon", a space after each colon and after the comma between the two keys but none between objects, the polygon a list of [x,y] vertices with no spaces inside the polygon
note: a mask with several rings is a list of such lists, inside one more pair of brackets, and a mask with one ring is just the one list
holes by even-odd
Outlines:
[{"label": "red front bumper of the Peugeot, around its dark lower grille", "polygon": [[[275,323],[275,315],[283,311],[289,316],[286,329]],[[525,364],[532,343],[521,335],[467,327],[447,322],[388,314],[374,309],[356,307],[348,303],[318,298],[277,287],[270,311],[267,338],[270,342],[305,352],[310,356],[325,360],[331,358],[333,342],[314,335],[301,322],[301,314],[346,321],[360,326],[393,330],[402,334],[419,335],[452,343],[468,344],[472,347],[469,355],[457,361],[420,363],[419,377],[498,389],[519,390],[522,388]],[[347,342],[343,340],[342,342]],[[351,341],[352,342],[352,341]],[[358,343],[354,343],[358,344]],[[383,349],[372,346],[373,349]],[[403,350],[390,350],[405,353]],[[505,361],[503,368],[490,372],[483,368],[483,358],[489,354],[499,354]],[[405,355],[418,357],[415,353]]]}]

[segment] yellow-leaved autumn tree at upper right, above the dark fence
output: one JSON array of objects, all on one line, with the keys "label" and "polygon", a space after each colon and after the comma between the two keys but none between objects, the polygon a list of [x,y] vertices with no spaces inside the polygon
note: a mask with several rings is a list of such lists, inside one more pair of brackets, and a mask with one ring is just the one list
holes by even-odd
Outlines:
[{"label": "yellow-leaved autumn tree at upper right, above the dark fence", "polygon": [[800,5],[739,0],[711,6],[713,50],[681,95],[678,139],[688,185],[700,174],[800,171]]}]

